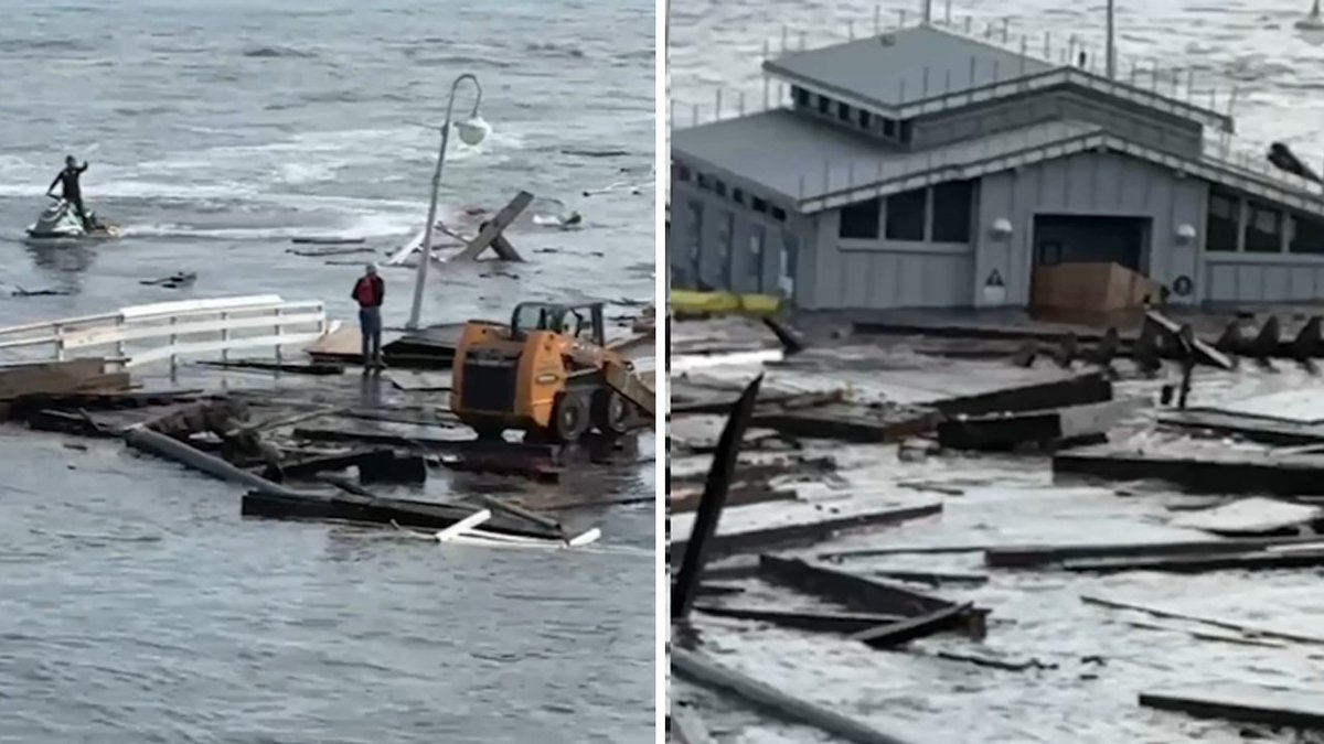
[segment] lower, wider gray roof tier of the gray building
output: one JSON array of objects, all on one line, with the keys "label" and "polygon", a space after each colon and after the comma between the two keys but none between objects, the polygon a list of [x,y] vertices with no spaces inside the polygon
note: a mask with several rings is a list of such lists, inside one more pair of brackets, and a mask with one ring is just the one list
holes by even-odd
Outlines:
[{"label": "lower, wider gray roof tier of the gray building", "polygon": [[1245,191],[1324,217],[1305,181],[1211,156],[1184,158],[1127,142],[1071,119],[972,138],[923,151],[887,150],[876,140],[773,110],[671,134],[673,158],[751,191],[780,197],[806,214],[936,183],[1106,148]]}]

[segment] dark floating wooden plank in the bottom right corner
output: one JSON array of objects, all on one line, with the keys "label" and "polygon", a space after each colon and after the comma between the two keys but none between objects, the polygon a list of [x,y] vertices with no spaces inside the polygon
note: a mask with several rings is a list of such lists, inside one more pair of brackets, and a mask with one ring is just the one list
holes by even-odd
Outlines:
[{"label": "dark floating wooden plank in the bottom right corner", "polygon": [[1249,684],[1141,692],[1140,704],[1196,718],[1217,718],[1319,731],[1324,729],[1324,698],[1317,691],[1282,690]]}]

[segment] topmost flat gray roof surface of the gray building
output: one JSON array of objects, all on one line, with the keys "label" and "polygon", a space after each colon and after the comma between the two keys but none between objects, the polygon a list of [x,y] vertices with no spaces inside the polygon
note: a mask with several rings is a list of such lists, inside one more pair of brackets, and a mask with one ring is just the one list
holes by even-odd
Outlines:
[{"label": "topmost flat gray roof surface of the gray building", "polygon": [[907,28],[858,41],[768,60],[764,70],[879,107],[1059,68],[932,26]]}]

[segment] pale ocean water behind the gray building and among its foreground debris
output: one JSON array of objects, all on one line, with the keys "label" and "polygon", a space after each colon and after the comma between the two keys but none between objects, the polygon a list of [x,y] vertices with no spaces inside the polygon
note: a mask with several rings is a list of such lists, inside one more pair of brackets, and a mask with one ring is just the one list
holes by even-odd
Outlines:
[{"label": "pale ocean water behind the gray building and among its foreground debris", "polygon": [[[1053,49],[1086,45],[1096,53],[1104,37],[1103,3],[1057,0],[956,0],[952,21],[964,28],[992,25],[994,36],[1008,28],[1009,46]],[[935,0],[935,19],[945,20],[948,4]],[[720,89],[723,115],[733,115],[741,94],[747,110],[761,105],[764,85],[759,64],[764,44],[776,53],[782,40],[790,49],[846,41],[873,33],[875,19],[895,25],[904,12],[914,23],[919,1],[789,1],[789,0],[671,0],[670,95],[677,126],[687,126],[698,111],[708,120]],[[1317,93],[1324,89],[1321,38],[1294,28],[1309,3],[1153,0],[1117,3],[1119,69],[1124,77],[1139,65],[1137,77],[1160,85],[1181,85],[1194,73],[1196,87],[1218,90],[1219,106],[1237,90],[1233,114],[1238,135],[1230,150],[1251,158],[1268,142],[1283,140],[1309,163],[1324,159],[1324,122]],[[775,89],[773,89],[775,90]],[[745,376],[752,375],[747,371]],[[822,383],[820,380],[818,383]],[[1319,380],[1296,371],[1206,375],[1196,398],[1215,402],[1272,389],[1319,389]],[[1124,395],[1152,389],[1124,387]],[[854,450],[854,451],[851,451]],[[857,490],[914,494],[899,482],[927,481],[963,491],[944,498],[941,519],[888,531],[850,536],[805,551],[895,544],[1006,544],[1123,541],[1172,539],[1165,508],[1174,494],[1145,488],[1133,498],[1113,487],[1055,486],[1046,462],[1006,458],[941,457],[925,463],[896,459],[895,447],[846,447],[834,454],[853,462]],[[943,498],[943,496],[936,496]],[[982,572],[978,553],[899,556],[851,560],[843,568],[936,572]],[[1099,594],[1149,606],[1237,620],[1299,633],[1319,624],[1319,573],[1218,572],[1200,576],[1124,573],[1076,577],[1050,572],[1000,572],[980,589],[944,588],[953,598],[969,598],[992,609],[989,638],[933,638],[912,643],[904,653],[862,650],[858,643],[824,635],[703,618],[708,653],[792,694],[900,733],[911,741],[988,741],[1022,744],[1123,741],[1235,743],[1242,740],[1307,741],[1308,735],[1267,731],[1222,721],[1201,721],[1137,706],[1141,691],[1168,686],[1214,686],[1249,682],[1317,691],[1324,658],[1317,646],[1258,647],[1193,639],[1176,630],[1135,628],[1153,618],[1100,610],[1080,594]],[[764,590],[765,592],[765,590]],[[775,593],[769,602],[796,598]],[[736,604],[735,601],[732,604]],[[756,604],[740,600],[741,605]],[[1025,673],[981,669],[933,659],[940,650],[1009,661],[1039,659],[1051,670]],[[1096,666],[1087,657],[1102,657]],[[719,741],[780,744],[828,741],[822,735],[784,725],[722,696],[679,683],[674,698],[692,702]]]}]

